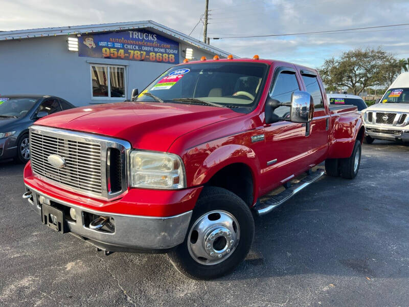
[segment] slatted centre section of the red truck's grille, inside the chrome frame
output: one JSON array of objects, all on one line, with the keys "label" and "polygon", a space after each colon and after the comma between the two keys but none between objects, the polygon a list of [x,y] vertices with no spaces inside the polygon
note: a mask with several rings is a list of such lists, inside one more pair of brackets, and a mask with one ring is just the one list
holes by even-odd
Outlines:
[{"label": "slatted centre section of the red truck's grille, inside the chrome frame", "polygon": [[[102,194],[101,145],[31,133],[33,171],[50,180],[80,191]],[[65,160],[63,168],[48,162],[56,154]]]}]

